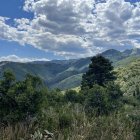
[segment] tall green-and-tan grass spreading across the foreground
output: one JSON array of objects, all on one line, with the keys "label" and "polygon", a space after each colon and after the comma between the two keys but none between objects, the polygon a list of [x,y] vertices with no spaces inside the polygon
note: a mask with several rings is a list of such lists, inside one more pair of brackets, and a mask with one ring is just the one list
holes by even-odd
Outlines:
[{"label": "tall green-and-tan grass spreading across the foreground", "polygon": [[[42,119],[42,120],[41,120]],[[39,125],[18,123],[2,126],[0,140],[32,140],[31,134],[48,130],[53,140],[134,140],[134,123],[124,114],[88,117],[81,105],[48,108],[38,120]],[[38,139],[36,139],[38,140]]]}]

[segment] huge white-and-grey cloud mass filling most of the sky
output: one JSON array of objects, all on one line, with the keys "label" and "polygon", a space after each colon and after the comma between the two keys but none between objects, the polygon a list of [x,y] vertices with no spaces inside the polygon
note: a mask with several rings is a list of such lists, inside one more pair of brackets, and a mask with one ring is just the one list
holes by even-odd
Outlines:
[{"label": "huge white-and-grey cloud mass filling most of the sky", "polygon": [[0,18],[0,38],[30,44],[66,58],[140,44],[140,2],[124,0],[25,0],[34,18]]}]

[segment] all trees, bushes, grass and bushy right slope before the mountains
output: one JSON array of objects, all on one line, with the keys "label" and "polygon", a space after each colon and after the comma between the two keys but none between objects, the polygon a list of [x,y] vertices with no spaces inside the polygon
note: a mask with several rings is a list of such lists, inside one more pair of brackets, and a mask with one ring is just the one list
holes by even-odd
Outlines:
[{"label": "all trees, bushes, grass and bushy right slope before the mountains", "polygon": [[94,56],[80,87],[67,90],[5,70],[0,140],[140,140],[140,59],[127,61]]}]

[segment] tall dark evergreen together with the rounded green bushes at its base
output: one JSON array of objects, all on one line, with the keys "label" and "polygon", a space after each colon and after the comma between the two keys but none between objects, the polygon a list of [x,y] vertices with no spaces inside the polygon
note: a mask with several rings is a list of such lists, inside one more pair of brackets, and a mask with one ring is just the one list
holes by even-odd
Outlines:
[{"label": "tall dark evergreen together with the rounded green bushes at its base", "polygon": [[81,83],[86,109],[90,114],[94,110],[96,116],[107,115],[118,110],[123,94],[114,84],[116,77],[111,62],[100,55],[94,56],[91,61]]}]

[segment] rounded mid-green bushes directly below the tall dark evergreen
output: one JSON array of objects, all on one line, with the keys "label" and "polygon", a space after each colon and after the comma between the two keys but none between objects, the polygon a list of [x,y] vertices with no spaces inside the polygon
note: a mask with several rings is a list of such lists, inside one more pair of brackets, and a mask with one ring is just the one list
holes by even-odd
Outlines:
[{"label": "rounded mid-green bushes directly below the tall dark evergreen", "polygon": [[96,116],[107,115],[121,107],[122,92],[113,83],[107,87],[94,85],[85,92],[86,110],[89,114],[94,112]]}]

